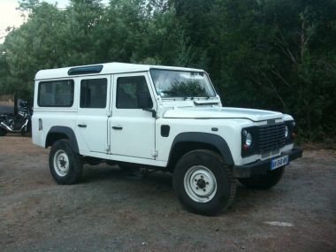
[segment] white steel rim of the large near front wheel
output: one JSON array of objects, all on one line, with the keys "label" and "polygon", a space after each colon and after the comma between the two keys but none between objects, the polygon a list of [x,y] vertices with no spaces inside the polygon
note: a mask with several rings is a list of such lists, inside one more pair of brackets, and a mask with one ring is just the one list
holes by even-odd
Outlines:
[{"label": "white steel rim of the large near front wheel", "polygon": [[215,175],[205,166],[190,167],[184,176],[187,195],[195,202],[210,202],[217,192]]}]

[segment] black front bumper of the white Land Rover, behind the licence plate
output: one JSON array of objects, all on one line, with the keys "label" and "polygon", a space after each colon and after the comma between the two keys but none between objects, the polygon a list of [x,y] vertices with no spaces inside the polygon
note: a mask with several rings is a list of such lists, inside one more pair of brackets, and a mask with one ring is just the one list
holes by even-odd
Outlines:
[{"label": "black front bumper of the white Land Rover, behind the licence plate", "polygon": [[263,161],[256,161],[251,164],[245,165],[234,165],[233,166],[233,176],[236,178],[248,178],[255,175],[262,175],[268,171],[271,171],[271,161],[275,158],[289,157],[289,162],[292,160],[302,157],[302,149],[294,148],[288,151],[281,153],[278,157],[271,157]]}]

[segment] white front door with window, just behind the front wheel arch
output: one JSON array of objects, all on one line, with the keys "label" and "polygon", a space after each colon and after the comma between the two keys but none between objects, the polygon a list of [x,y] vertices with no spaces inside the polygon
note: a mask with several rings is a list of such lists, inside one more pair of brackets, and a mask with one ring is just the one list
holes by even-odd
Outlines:
[{"label": "white front door with window, just behind the front wheel arch", "polygon": [[[138,94],[149,88],[148,73],[115,74],[113,77],[112,116],[110,118],[111,154],[154,159],[155,120],[152,113],[138,106]],[[152,103],[153,99],[151,98]],[[156,103],[153,103],[156,109]]]}]

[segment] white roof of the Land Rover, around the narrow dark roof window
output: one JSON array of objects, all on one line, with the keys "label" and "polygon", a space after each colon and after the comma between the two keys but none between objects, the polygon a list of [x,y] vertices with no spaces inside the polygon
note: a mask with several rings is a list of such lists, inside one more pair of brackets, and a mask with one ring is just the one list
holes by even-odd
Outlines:
[{"label": "white roof of the Land Rover, around the narrow dark roof window", "polygon": [[[80,74],[77,76],[145,72],[145,71],[149,71],[151,68],[179,70],[179,71],[194,71],[194,72],[203,71],[202,69],[195,69],[195,68],[164,66],[164,65],[138,65],[138,64],[128,64],[128,63],[118,63],[118,62],[96,64],[96,65],[103,65],[103,69],[100,73]],[[84,66],[92,66],[92,65],[79,65],[79,66],[71,66],[71,67],[65,67],[65,68],[40,70],[39,72],[36,73],[35,80],[75,77],[76,75],[69,76],[68,71],[73,67],[84,67]]]}]

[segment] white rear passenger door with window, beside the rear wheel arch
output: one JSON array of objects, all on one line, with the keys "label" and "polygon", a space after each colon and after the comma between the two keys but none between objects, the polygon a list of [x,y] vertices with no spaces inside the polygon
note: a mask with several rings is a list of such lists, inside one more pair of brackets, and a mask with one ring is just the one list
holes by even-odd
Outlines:
[{"label": "white rear passenger door with window, beside the rear wheel arch", "polygon": [[80,78],[76,135],[81,152],[107,153],[111,75]]}]

